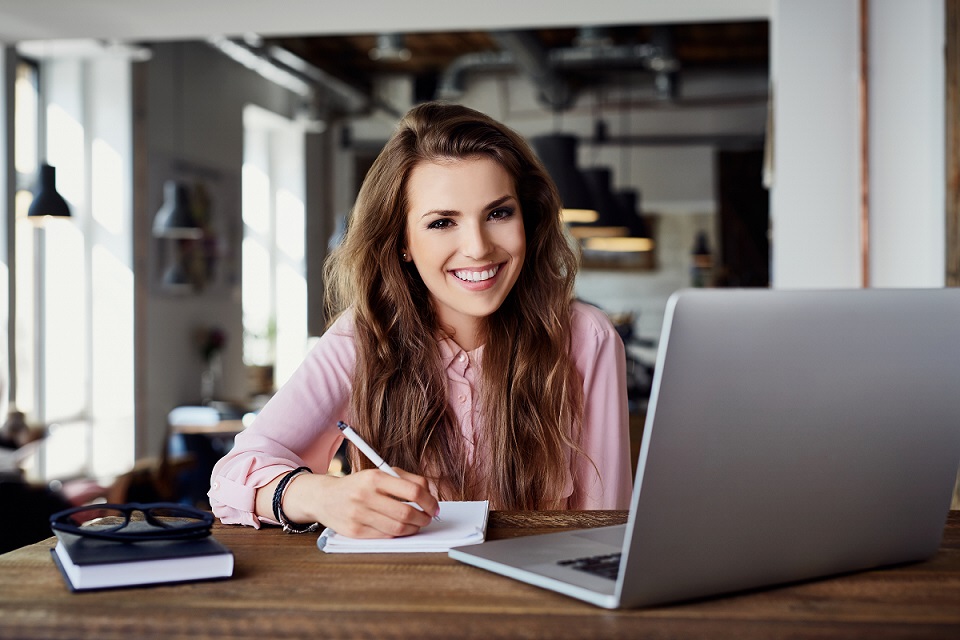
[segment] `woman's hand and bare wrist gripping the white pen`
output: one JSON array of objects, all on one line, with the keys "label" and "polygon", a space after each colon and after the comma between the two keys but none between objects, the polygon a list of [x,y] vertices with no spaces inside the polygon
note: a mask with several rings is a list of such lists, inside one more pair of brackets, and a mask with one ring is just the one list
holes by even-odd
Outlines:
[{"label": "woman's hand and bare wrist gripping the white pen", "polygon": [[[440,511],[426,478],[396,469],[400,478],[365,469],[344,477],[304,473],[283,496],[283,512],[293,522],[321,522],[351,538],[395,538],[416,533]],[[282,476],[281,476],[282,477]],[[268,506],[279,478],[257,491],[257,511]],[[267,499],[266,503],[262,501]],[[414,503],[423,511],[406,504]]]}]

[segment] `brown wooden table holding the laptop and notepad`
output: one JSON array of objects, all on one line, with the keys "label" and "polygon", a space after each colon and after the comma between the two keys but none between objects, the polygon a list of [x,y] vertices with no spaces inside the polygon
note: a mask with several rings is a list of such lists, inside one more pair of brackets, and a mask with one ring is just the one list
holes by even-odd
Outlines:
[{"label": "brown wooden table holding the laptop and notepad", "polygon": [[[8,514],[13,517],[13,514]],[[491,539],[624,512],[492,512]],[[960,512],[931,560],[667,607],[607,611],[444,554],[326,555],[316,535],[218,525],[218,582],[70,593],[53,539],[0,556],[0,638],[960,638]]]}]

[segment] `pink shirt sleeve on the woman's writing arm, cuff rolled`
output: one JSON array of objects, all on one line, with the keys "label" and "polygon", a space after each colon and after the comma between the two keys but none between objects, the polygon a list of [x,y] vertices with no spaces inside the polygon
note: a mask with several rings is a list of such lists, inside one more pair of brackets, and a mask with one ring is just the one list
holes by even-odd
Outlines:
[{"label": "pink shirt sleeve on the woman's writing arm, cuff rolled", "polygon": [[300,466],[326,473],[343,440],[337,421],[350,419],[355,365],[352,319],[344,315],[214,466],[207,494],[214,515],[225,524],[273,523],[255,513],[257,489]]}]

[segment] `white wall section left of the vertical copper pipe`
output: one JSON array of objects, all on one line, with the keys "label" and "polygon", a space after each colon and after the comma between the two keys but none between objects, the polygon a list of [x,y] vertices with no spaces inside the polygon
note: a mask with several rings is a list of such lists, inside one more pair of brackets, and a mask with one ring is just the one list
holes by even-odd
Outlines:
[{"label": "white wall section left of the vertical copper pipe", "polygon": [[773,0],[772,9],[772,286],[857,287],[857,3]]}]

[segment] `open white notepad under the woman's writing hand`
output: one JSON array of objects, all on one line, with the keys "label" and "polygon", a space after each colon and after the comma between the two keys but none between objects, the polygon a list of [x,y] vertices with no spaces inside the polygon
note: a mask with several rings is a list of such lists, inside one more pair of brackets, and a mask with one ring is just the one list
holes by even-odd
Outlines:
[{"label": "open white notepad under the woman's writing hand", "polygon": [[325,553],[445,553],[483,542],[489,509],[486,500],[441,501],[440,521],[431,521],[412,536],[367,540],[340,535],[328,527],[317,539],[317,547]]}]

